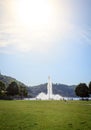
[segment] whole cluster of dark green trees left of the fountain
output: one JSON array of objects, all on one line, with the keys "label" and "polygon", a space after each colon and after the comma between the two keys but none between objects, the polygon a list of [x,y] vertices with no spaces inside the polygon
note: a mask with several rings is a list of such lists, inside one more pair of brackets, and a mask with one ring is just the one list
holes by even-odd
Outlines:
[{"label": "whole cluster of dark green trees left of the fountain", "polygon": [[4,82],[0,81],[0,99],[22,99],[27,97],[27,89],[24,85],[18,85],[15,81],[7,87]]}]

